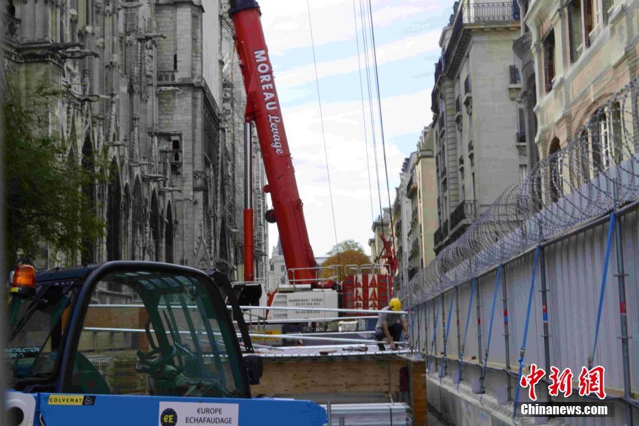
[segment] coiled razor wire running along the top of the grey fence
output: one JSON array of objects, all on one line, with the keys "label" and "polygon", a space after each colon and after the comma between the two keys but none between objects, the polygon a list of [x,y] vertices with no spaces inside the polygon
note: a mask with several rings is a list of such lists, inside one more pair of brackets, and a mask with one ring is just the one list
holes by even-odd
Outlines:
[{"label": "coiled razor wire running along the top of the grey fence", "polygon": [[[598,108],[526,179],[508,186],[453,243],[418,271],[400,298],[410,306],[480,276],[544,240],[639,199],[639,78]],[[480,205],[477,206],[478,213]],[[410,296],[410,297],[409,297]]]}]

